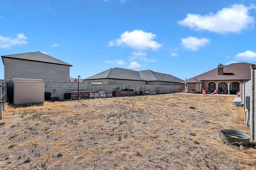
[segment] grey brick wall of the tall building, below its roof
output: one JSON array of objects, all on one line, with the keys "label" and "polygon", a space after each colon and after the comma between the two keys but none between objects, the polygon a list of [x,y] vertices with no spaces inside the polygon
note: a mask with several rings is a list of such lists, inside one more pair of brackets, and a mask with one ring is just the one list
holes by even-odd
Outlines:
[{"label": "grey brick wall of the tall building, below its roof", "polygon": [[4,59],[4,79],[13,78],[42,79],[54,81],[69,81],[69,66],[25,61],[18,59]]}]

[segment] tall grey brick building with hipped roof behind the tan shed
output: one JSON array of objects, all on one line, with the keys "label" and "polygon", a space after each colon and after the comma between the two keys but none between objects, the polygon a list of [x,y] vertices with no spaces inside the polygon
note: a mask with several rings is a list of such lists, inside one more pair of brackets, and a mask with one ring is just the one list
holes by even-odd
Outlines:
[{"label": "tall grey brick building with hipped roof behind the tan shed", "polygon": [[72,65],[39,51],[14,55],[3,55],[4,79],[42,79],[70,81]]}]

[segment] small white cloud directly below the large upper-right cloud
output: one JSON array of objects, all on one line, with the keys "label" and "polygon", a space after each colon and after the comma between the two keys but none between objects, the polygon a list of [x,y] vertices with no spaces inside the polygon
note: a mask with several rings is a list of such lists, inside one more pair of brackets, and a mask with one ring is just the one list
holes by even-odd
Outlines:
[{"label": "small white cloud directly below the large upper-right cloud", "polygon": [[204,47],[208,43],[210,40],[207,38],[186,37],[181,39],[181,45],[192,51],[197,51],[199,47]]}]

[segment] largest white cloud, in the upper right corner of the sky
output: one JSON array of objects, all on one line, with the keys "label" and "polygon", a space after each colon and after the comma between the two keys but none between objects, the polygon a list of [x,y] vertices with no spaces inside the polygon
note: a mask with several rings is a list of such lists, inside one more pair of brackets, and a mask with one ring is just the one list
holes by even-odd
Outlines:
[{"label": "largest white cloud, in the upper right corner of the sky", "polygon": [[254,5],[248,7],[234,4],[230,8],[222,8],[216,14],[208,15],[187,14],[178,24],[196,30],[208,30],[217,33],[238,33],[254,23],[254,17],[249,16],[249,10],[256,9]]}]

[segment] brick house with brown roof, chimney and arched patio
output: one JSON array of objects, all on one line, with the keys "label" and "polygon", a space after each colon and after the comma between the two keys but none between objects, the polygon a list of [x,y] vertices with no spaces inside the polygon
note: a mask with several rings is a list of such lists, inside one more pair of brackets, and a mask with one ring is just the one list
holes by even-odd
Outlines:
[{"label": "brick house with brown roof, chimney and arched patio", "polygon": [[251,80],[250,63],[233,63],[229,65],[218,65],[218,68],[180,82],[182,90],[196,93],[214,92],[220,90],[224,94],[236,94],[241,89],[241,84]]}]

